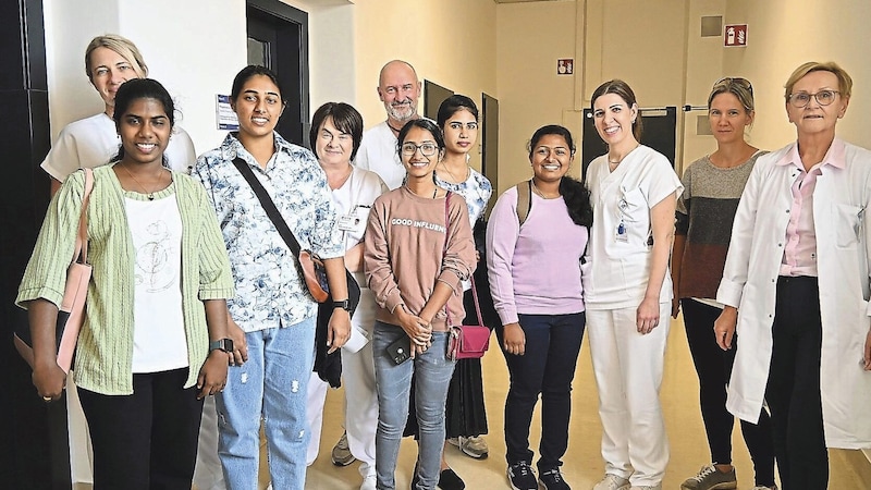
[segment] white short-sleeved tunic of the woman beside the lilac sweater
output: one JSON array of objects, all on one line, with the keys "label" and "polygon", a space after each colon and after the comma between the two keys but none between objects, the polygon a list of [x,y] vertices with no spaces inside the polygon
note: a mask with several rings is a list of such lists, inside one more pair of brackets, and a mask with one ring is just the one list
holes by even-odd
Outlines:
[{"label": "white short-sleeved tunic of the woman beside the lilac sweater", "polygon": [[[587,186],[593,207],[589,246],[590,277],[585,280],[588,309],[636,307],[647,290],[652,259],[650,210],[670,194],[684,192],[668,159],[639,146],[609,171],[608,155],[590,162]],[[660,303],[672,299],[671,274]]]}]

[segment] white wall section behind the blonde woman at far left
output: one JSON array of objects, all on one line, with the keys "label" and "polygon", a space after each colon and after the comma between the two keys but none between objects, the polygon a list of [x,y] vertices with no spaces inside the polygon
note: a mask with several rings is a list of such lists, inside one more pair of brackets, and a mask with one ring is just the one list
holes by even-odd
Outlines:
[{"label": "white wall section behind the blonde woman at far left", "polygon": [[197,152],[218,146],[214,94],[229,94],[246,64],[244,1],[44,0],[44,8],[52,138],[102,111],[84,54],[91,38],[114,33],[136,44],[149,76],[173,95]]}]

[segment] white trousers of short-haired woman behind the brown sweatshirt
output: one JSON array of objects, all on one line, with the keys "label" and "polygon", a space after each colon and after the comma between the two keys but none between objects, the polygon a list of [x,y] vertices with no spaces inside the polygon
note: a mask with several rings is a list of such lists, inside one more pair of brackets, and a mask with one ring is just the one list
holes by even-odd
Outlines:
[{"label": "white trousers of short-haired woman behind the brown sweatshirt", "polygon": [[[375,328],[375,295],[367,287],[360,289],[360,303],[351,320],[351,328],[361,329],[368,339]],[[375,362],[372,343],[368,342],[357,352],[342,350],[342,385],[345,388],[345,431],[351,454],[363,463],[360,475],[375,474],[375,433],[378,429],[378,392],[375,387]],[[320,451],[320,434],[323,422],[323,403],[329,384],[317,373],[308,383],[306,418],[311,439],[306,454],[306,464],[311,465]]]}]

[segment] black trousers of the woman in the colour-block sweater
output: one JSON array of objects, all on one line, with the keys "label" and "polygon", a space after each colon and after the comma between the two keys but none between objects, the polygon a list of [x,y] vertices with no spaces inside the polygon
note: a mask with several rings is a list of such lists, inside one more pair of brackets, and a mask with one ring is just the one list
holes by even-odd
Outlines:
[{"label": "black trousers of the woman in the colour-block sweater", "polygon": [[[726,385],[735,364],[738,336],[732,341],[733,347],[723,351],[716,345],[714,321],[723,311],[690,298],[680,299],[684,310],[684,326],[687,330],[689,352],[699,375],[699,403],[704,420],[711,462],[721,465],[732,464],[732,428],[735,417],[726,409]],[[759,424],[741,420],[741,436],[756,470],[756,485],[774,485],[774,448],[771,433],[771,418],[762,408]]]}]

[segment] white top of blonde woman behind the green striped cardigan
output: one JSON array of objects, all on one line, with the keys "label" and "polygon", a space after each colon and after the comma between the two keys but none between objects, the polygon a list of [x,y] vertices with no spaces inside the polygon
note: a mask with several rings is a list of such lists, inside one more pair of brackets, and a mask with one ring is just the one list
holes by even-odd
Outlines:
[{"label": "white top of blonde woman behind the green striped cardigan", "polygon": [[[105,112],[68,124],[51,146],[40,166],[49,175],[63,182],[78,169],[96,168],[109,163],[118,155],[121,138],[115,122]],[[191,173],[197,161],[194,142],[181,126],[172,130],[170,143],[163,154],[170,169]]]}]

